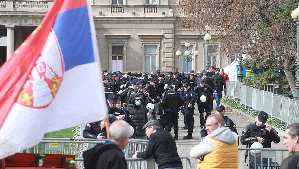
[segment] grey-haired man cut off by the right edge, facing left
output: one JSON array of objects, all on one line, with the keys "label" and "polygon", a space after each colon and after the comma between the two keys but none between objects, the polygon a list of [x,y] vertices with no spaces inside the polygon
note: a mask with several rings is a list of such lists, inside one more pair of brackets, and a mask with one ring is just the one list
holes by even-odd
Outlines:
[{"label": "grey-haired man cut off by the right edge, facing left", "polygon": [[288,125],[284,138],[283,144],[292,155],[282,161],[280,168],[297,169],[299,167],[299,123]]}]

